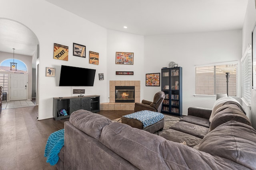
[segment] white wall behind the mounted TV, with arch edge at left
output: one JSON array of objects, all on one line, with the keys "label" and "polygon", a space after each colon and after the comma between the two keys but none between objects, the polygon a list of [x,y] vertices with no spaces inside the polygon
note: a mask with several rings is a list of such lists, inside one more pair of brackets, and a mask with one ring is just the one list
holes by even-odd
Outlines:
[{"label": "white wall behind the mounted TV, with arch edge at left", "polygon": [[[106,81],[98,80],[98,73],[106,72],[107,31],[44,0],[2,1],[0,16],[23,23],[38,37],[40,43],[38,119],[52,117],[53,97],[72,96],[71,87],[59,87],[61,65],[96,69],[93,87],[81,87],[85,95],[99,94],[106,101]],[[38,8],[40,7],[40,8]],[[54,43],[69,47],[68,61],[53,59]],[[86,45],[86,58],[72,55],[72,45]],[[99,65],[89,64],[88,53],[99,53]],[[46,77],[46,67],[55,67],[55,77]],[[82,75],[81,75],[82,77]],[[102,100],[103,99],[103,100]]]}]

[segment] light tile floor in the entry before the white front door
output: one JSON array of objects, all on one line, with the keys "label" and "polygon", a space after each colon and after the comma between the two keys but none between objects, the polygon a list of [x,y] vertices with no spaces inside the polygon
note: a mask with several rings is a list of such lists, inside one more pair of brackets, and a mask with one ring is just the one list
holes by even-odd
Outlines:
[{"label": "light tile floor in the entry before the white front door", "polygon": [[2,102],[2,109],[13,109],[19,107],[36,106],[31,100],[17,100],[10,102]]}]

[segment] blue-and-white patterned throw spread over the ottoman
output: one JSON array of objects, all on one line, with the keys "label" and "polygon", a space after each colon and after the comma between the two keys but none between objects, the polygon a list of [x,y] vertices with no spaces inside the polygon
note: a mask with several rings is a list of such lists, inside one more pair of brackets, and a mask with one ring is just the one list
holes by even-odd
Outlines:
[{"label": "blue-and-white patterned throw spread over the ottoman", "polygon": [[143,128],[145,128],[149,125],[153,125],[156,122],[160,121],[162,118],[164,118],[164,115],[156,111],[142,110],[137,111],[135,113],[131,113],[129,115],[124,115],[123,117],[129,119],[137,119],[142,122]]}]

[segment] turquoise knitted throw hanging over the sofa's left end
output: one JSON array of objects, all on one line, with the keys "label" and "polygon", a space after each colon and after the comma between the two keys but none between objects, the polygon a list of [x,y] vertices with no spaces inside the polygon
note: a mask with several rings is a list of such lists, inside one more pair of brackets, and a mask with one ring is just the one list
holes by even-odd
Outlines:
[{"label": "turquoise knitted throw hanging over the sofa's left end", "polygon": [[52,133],[45,146],[44,157],[46,157],[46,162],[50,165],[55,165],[58,160],[60,150],[64,146],[64,129]]}]

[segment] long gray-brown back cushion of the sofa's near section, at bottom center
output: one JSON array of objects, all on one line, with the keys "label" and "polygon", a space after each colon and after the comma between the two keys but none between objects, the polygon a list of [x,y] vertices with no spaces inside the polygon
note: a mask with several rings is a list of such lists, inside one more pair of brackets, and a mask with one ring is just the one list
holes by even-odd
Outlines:
[{"label": "long gray-brown back cushion of the sofa's near section, at bottom center", "polygon": [[231,160],[168,141],[123,123],[106,125],[99,142],[141,170],[246,169]]}]

